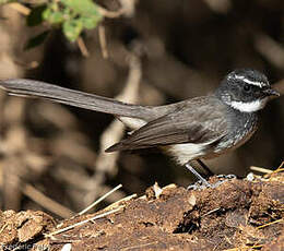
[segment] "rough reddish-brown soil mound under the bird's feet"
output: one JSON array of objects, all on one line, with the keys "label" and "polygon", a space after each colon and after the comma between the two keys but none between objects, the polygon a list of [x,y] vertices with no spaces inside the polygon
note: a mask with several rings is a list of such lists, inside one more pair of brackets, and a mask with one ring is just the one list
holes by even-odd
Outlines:
[{"label": "rough reddish-brown soil mound under the bird's feet", "polygon": [[[114,214],[46,236],[114,208],[118,208]],[[279,172],[253,181],[233,179],[201,191],[153,186],[144,196],[62,223],[43,212],[2,212],[0,242],[2,250],[62,250],[63,246],[70,250],[71,244],[73,251],[280,251],[284,250],[283,216],[284,174]]]}]

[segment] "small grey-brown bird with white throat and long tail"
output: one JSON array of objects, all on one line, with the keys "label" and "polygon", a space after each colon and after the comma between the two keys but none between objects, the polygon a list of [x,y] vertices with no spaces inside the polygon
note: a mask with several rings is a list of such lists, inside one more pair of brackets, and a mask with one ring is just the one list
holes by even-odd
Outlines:
[{"label": "small grey-brown bird with white throat and long tail", "polygon": [[[258,70],[236,69],[205,96],[162,106],[141,106],[60,87],[42,81],[10,79],[0,87],[16,96],[33,96],[88,110],[111,113],[132,132],[106,150],[159,147],[186,166],[204,187],[212,187],[192,162],[214,158],[236,150],[256,132],[259,111],[272,96],[280,96]],[[201,160],[202,159],[202,160]]]}]

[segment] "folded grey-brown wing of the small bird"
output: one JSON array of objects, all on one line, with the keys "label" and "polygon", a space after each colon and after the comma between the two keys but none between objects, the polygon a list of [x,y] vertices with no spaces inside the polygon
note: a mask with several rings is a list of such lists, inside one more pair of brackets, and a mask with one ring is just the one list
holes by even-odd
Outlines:
[{"label": "folded grey-brown wing of the small bird", "polygon": [[220,103],[205,97],[182,101],[176,111],[146,123],[106,152],[217,141],[226,135],[227,124],[224,108],[215,109],[215,104]]}]

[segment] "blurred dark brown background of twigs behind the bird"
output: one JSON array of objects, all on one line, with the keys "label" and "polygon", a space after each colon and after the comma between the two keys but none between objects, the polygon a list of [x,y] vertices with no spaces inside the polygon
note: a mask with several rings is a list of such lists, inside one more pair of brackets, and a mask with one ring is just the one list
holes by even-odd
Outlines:
[{"label": "blurred dark brown background of twigs behind the bird", "polygon": [[[106,14],[74,43],[52,29],[43,45],[29,50],[24,49],[26,41],[45,25],[28,27],[19,5],[1,5],[0,79],[29,77],[161,105],[205,95],[236,68],[262,71],[272,84],[284,76],[283,0],[96,3],[110,14],[123,11]],[[271,101],[261,113],[261,125],[248,143],[205,162],[214,172],[245,177],[250,166],[275,169],[281,164],[284,99]],[[110,115],[1,91],[0,133],[2,210],[44,210],[68,217],[118,183],[123,188],[105,204],[142,194],[155,181],[185,187],[194,181],[158,151],[105,154],[104,148],[126,136]]]}]

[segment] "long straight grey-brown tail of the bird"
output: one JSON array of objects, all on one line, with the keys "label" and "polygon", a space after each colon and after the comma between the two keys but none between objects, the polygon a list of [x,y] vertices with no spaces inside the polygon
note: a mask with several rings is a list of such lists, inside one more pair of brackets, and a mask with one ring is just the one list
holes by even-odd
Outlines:
[{"label": "long straight grey-brown tail of the bird", "polygon": [[25,79],[4,80],[0,81],[0,87],[15,96],[40,97],[55,103],[116,116],[139,118],[145,121],[152,120],[155,117],[151,107],[126,104],[113,98],[63,88],[40,81]]}]

